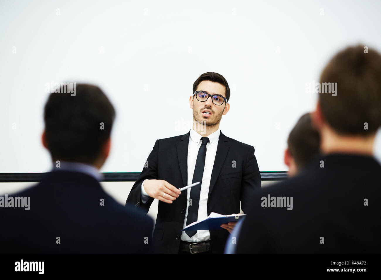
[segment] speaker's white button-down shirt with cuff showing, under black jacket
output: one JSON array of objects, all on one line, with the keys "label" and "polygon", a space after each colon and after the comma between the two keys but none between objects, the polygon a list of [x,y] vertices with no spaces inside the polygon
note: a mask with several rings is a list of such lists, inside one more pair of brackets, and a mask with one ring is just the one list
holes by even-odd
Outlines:
[{"label": "speaker's white button-down shirt with cuff showing, under black jacket", "polygon": [[[209,142],[207,144],[207,154],[205,155],[205,166],[204,173],[202,176],[201,182],[201,190],[200,190],[200,201],[199,201],[199,212],[197,214],[197,221],[206,219],[208,217],[207,203],[208,203],[208,193],[209,193],[209,185],[210,179],[212,175],[213,165],[215,162],[218,139],[221,130],[217,130],[212,134],[206,136],[209,138]],[[201,146],[201,136],[197,133],[193,128],[191,129],[191,134],[189,136],[189,144],[188,144],[188,185],[192,184],[194,168],[196,166],[197,155],[199,153],[199,149]],[[146,181],[146,180],[144,180]],[[149,195],[144,190],[142,182],[141,185],[141,199],[143,203],[146,203],[149,199]],[[187,202],[189,202],[189,198],[191,197],[191,189],[187,189]],[[187,209],[185,212],[184,225],[186,226],[187,216],[188,216],[188,207],[189,203],[187,203]],[[181,240],[187,242],[202,242],[210,240],[210,232],[209,230],[197,230],[197,233],[192,237],[189,237],[185,231],[181,234]]]}]

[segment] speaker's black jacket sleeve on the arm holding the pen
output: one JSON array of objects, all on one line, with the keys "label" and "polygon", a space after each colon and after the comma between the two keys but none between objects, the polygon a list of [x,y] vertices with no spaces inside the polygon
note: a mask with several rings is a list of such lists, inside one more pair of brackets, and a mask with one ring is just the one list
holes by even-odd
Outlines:
[{"label": "speaker's black jacket sleeve on the arm holding the pen", "polygon": [[141,184],[145,179],[158,179],[157,174],[157,155],[159,150],[159,140],[156,140],[155,146],[152,152],[149,154],[146,163],[144,164],[143,170],[140,173],[138,180],[132,186],[130,194],[127,197],[126,205],[130,204],[135,206],[135,208],[140,208],[144,213],[148,213],[151,203],[154,198],[150,197],[147,202],[141,200]]}]

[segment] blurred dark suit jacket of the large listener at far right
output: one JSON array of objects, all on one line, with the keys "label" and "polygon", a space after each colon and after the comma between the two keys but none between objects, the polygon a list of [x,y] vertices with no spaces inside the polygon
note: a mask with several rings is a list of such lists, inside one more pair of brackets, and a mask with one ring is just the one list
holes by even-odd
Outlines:
[{"label": "blurred dark suit jacket of the large listener at far right", "polygon": [[[320,157],[253,195],[236,253],[381,253],[380,174],[372,157]],[[268,194],[293,197],[293,210],[262,207]]]}]

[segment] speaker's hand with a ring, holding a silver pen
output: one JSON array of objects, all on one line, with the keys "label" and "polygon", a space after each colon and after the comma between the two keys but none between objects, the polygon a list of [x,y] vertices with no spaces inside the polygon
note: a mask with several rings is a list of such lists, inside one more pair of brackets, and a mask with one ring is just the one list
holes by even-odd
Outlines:
[{"label": "speaker's hand with a ring, holding a silver pen", "polygon": [[172,203],[181,194],[178,188],[164,180],[146,180],[143,187],[150,197],[165,203]]}]

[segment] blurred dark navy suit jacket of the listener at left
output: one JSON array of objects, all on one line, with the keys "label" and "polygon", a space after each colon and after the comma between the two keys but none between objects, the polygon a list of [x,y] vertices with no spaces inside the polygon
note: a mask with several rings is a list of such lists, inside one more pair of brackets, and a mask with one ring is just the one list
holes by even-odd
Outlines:
[{"label": "blurred dark navy suit jacket of the listener at left", "polygon": [[1,253],[152,252],[153,220],[117,203],[89,175],[54,171],[8,196],[30,197],[30,210],[0,208]]}]

